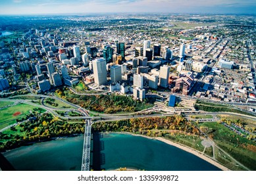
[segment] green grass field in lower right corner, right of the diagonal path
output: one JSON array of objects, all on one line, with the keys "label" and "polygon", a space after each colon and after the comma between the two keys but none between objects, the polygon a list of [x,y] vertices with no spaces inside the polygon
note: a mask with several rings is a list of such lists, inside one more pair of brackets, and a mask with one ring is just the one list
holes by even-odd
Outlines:
[{"label": "green grass field in lower right corner, right of the diagonal path", "polygon": [[[251,170],[256,170],[255,141],[251,141],[234,133],[222,124],[206,122],[199,125],[209,127],[213,130],[207,134],[215,141],[218,147],[228,152],[230,156]],[[252,149],[249,150],[249,147]]]}]

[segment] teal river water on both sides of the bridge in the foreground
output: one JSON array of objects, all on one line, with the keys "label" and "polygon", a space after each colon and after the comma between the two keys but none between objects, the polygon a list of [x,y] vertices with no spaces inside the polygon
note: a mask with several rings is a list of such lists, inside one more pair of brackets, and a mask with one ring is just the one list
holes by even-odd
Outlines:
[{"label": "teal river water on both sides of the bridge in the foreground", "polygon": [[[80,170],[83,135],[35,143],[4,153],[16,170]],[[161,141],[122,133],[104,134],[101,158],[105,170],[220,170],[205,160]]]}]

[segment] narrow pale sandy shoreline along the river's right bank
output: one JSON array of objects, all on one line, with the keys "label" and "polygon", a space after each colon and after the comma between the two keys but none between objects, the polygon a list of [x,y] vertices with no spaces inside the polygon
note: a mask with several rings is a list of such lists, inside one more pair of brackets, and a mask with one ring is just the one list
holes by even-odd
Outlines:
[{"label": "narrow pale sandy shoreline along the river's right bank", "polygon": [[[128,132],[122,132],[122,133],[128,133]],[[140,135],[140,134],[134,134],[134,133],[128,133],[128,134],[132,134],[132,135],[136,135],[136,136],[140,136],[140,137],[145,137],[147,139],[156,139],[158,141],[162,141],[163,143],[166,143],[168,145],[172,145],[174,147],[177,147],[178,149],[182,149],[185,150],[186,152],[190,152],[191,154],[194,154],[195,156],[198,156],[199,158],[205,160],[206,162],[209,162],[210,164],[213,164],[213,166],[216,166],[217,168],[220,168],[220,170],[222,171],[230,171],[228,168],[226,168],[225,166],[222,166],[221,164],[219,164],[218,162],[216,162],[215,160],[212,160],[211,158],[205,156],[204,154],[202,154],[201,152],[194,150],[190,147],[186,147],[184,145],[180,145],[178,143],[174,143],[168,139],[165,139],[163,137],[147,137],[145,135]]]}]

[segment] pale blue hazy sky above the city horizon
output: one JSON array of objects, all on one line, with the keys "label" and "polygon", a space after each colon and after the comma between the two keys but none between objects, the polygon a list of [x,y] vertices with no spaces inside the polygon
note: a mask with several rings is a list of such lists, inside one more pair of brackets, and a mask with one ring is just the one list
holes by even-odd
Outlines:
[{"label": "pale blue hazy sky above the city horizon", "polygon": [[98,12],[256,14],[256,0],[0,0],[0,14]]}]

